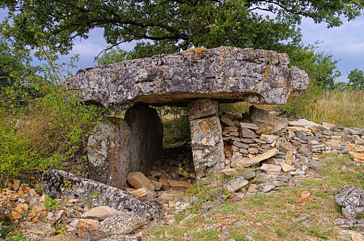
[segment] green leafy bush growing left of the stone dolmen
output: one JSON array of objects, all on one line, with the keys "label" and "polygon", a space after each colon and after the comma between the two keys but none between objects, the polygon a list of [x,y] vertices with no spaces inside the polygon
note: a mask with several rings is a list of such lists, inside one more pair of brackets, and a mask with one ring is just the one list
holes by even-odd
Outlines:
[{"label": "green leafy bush growing left of the stone dolmen", "polygon": [[3,102],[17,95],[3,92],[0,185],[16,176],[31,182],[51,167],[87,174],[88,135],[105,111],[102,107],[80,104],[78,94],[63,87],[65,64],[57,65],[56,56],[44,50],[39,57],[46,60],[43,72],[47,79],[37,85],[40,97],[28,98],[27,105],[11,107]]}]

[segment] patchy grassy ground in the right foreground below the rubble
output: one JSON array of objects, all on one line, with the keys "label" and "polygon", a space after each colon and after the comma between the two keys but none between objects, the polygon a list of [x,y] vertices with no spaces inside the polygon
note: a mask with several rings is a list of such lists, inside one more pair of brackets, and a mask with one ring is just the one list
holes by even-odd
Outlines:
[{"label": "patchy grassy ground in the right foreground below the rubble", "polygon": [[[364,186],[364,167],[347,167],[347,156],[326,154],[316,177],[304,180],[301,187],[282,187],[243,200],[227,200],[207,213],[189,209],[172,224],[155,224],[146,229],[148,240],[220,240],[221,229],[205,230],[206,224],[219,223],[229,229],[229,238],[249,240],[340,240],[335,224],[341,209],[334,201],[337,189],[347,184]],[[305,191],[311,196],[303,198]],[[181,222],[189,214],[196,216]],[[204,214],[211,218],[204,218]],[[299,217],[306,217],[297,220]],[[222,227],[221,226],[221,227]],[[221,228],[220,227],[220,228]]]}]

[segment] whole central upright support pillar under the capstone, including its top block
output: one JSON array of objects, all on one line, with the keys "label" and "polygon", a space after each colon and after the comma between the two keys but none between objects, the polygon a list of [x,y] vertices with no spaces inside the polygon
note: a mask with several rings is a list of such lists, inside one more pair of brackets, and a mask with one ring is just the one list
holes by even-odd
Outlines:
[{"label": "whole central upright support pillar under the capstone, including its top block", "polygon": [[224,143],[218,114],[218,101],[199,99],[189,103],[193,165],[198,178],[224,167]]}]

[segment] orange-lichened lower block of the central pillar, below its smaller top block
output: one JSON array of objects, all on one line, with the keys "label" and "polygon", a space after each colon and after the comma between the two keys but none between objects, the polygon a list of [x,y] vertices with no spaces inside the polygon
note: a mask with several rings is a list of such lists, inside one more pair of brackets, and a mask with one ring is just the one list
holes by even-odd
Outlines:
[{"label": "orange-lichened lower block of the central pillar, below its smaller top block", "polygon": [[[189,109],[198,109],[190,103]],[[193,165],[198,178],[206,176],[210,169],[224,167],[224,143],[218,116],[190,121]]]}]

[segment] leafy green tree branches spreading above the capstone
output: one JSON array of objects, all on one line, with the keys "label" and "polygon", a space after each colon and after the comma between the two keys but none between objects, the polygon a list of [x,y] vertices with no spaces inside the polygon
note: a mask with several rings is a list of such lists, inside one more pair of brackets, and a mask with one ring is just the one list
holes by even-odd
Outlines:
[{"label": "leafy green tree branches spreading above the capstone", "polygon": [[0,7],[9,10],[6,34],[32,47],[66,54],[75,39],[103,28],[111,47],[142,41],[133,53],[151,56],[193,46],[280,51],[299,41],[302,17],[338,26],[361,14],[363,0],[6,0]]}]

